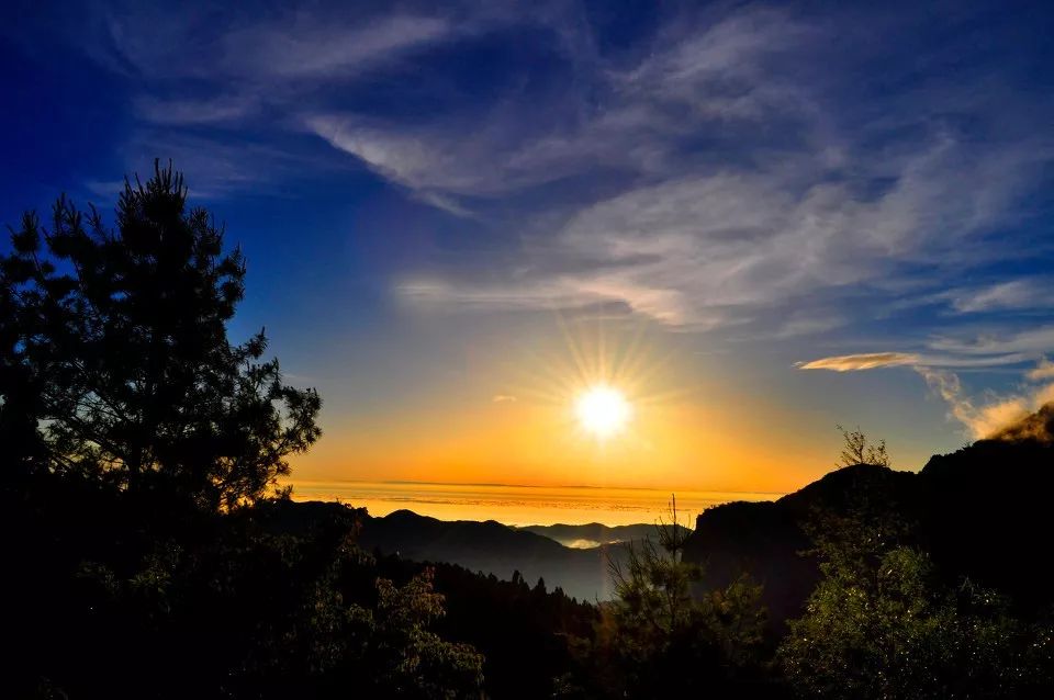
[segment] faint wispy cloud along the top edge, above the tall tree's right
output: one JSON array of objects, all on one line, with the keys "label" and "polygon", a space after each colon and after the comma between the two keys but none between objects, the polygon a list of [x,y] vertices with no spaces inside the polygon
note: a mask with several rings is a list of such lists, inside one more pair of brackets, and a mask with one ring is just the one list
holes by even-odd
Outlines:
[{"label": "faint wispy cloud along the top edge, above the tall tree's right", "polygon": [[311,13],[231,7],[204,14],[111,3],[92,13],[88,29],[96,33],[85,45],[89,55],[123,75],[239,81],[239,87],[267,81],[272,89],[276,80],[359,75],[459,31],[449,19],[429,13],[371,13],[339,4],[321,4]]}]

